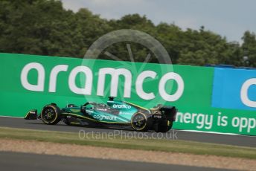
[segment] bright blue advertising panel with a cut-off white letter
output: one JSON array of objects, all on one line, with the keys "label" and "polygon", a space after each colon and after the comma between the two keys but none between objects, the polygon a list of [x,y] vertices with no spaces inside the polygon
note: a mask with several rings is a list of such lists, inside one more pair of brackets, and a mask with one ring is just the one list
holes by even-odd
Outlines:
[{"label": "bright blue advertising panel with a cut-off white letter", "polygon": [[256,110],[256,70],[215,68],[211,106]]}]

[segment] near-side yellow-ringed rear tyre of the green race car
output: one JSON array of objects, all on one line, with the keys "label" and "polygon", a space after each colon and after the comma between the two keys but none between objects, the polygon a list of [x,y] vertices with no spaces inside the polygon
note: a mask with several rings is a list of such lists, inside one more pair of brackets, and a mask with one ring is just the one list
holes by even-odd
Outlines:
[{"label": "near-side yellow-ringed rear tyre of the green race car", "polygon": [[142,112],[137,112],[132,115],[131,125],[135,131],[147,132],[150,128],[150,117]]}]

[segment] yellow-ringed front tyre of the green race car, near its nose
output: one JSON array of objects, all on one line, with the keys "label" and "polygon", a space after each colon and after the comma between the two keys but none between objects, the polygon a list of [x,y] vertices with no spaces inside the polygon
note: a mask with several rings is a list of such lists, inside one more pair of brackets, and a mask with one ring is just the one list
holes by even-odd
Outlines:
[{"label": "yellow-ringed front tyre of the green race car, near its nose", "polygon": [[60,108],[55,105],[47,105],[40,114],[42,122],[48,125],[56,125],[60,121]]}]

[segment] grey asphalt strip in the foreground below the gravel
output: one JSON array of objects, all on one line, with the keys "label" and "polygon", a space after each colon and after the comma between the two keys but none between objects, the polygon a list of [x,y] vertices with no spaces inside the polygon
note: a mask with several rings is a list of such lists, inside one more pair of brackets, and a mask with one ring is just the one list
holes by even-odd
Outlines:
[{"label": "grey asphalt strip in the foreground below the gravel", "polygon": [[205,167],[188,167],[171,164],[151,164],[135,161],[115,161],[97,158],[74,158],[60,155],[36,155],[19,152],[0,152],[1,170],[45,171],[45,170],[93,170],[93,171],[154,171],[154,170],[220,170]]}]

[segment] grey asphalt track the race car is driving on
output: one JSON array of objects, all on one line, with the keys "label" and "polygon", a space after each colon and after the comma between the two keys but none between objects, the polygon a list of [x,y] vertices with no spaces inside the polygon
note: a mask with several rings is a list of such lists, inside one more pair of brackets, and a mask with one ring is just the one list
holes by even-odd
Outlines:
[{"label": "grey asphalt track the race car is driving on", "polygon": [[[83,130],[84,132],[112,132],[115,134],[124,133],[138,133],[127,130],[118,129],[100,129],[88,126],[66,126],[64,123],[58,123],[57,125],[45,125],[41,120],[24,120],[22,118],[15,117],[0,117],[0,126],[12,127],[12,128],[22,128],[22,129],[39,129],[39,130],[49,130],[49,131],[60,131],[60,132],[79,132]],[[156,132],[145,132],[145,134],[150,137],[156,137]],[[171,135],[171,136],[170,136]],[[186,141],[199,141],[205,143],[221,143],[235,146],[251,146],[256,147],[256,136],[244,136],[244,135],[220,135],[214,133],[204,133],[204,132],[185,132],[181,130],[170,130],[164,138],[170,138],[170,141],[175,141],[175,139],[186,140]],[[174,138],[174,139],[173,139]]]}]

